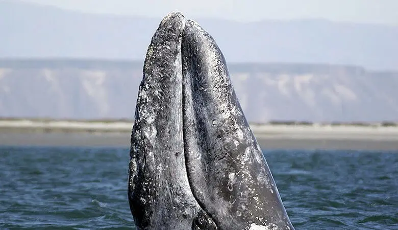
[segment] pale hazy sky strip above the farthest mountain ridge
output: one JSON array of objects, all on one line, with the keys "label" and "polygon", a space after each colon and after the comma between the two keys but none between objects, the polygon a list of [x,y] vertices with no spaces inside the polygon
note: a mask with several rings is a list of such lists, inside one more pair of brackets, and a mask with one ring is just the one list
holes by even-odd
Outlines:
[{"label": "pale hazy sky strip above the farthest mountain ridge", "polygon": [[187,17],[239,21],[327,18],[336,21],[398,25],[398,0],[24,0],[91,13],[163,17],[181,11]]}]

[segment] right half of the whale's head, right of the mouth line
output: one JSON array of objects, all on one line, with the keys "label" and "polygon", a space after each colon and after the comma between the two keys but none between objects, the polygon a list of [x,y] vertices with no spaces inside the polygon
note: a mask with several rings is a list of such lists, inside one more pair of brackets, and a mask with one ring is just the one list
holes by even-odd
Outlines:
[{"label": "right half of the whale's head, right of the mouth line", "polygon": [[191,20],[182,38],[184,151],[193,195],[219,229],[292,229],[216,42]]}]

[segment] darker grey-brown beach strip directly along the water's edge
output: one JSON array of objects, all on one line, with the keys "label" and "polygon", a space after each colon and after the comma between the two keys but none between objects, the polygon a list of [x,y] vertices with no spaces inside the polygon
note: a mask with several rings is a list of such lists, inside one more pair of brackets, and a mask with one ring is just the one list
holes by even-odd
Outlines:
[{"label": "darker grey-brown beach strip directly along the water's edge", "polygon": [[[299,139],[256,137],[262,150],[375,150],[396,151],[396,140]],[[130,148],[128,133],[0,133],[1,146],[27,147],[117,147]]]}]

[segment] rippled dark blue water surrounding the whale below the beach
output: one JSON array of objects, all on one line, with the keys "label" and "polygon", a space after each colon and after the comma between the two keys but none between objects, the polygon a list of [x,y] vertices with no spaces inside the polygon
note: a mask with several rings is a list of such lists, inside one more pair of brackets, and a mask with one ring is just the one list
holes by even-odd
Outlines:
[{"label": "rippled dark blue water surrounding the whale below the beach", "polygon": [[[398,151],[264,151],[296,229],[398,229]],[[0,229],[134,229],[129,150],[0,147]]]}]

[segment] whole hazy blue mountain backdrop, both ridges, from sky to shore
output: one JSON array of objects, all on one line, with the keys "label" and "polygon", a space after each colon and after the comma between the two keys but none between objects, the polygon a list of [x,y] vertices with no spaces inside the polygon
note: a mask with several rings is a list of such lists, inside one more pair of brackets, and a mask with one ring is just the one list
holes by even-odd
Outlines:
[{"label": "whole hazy blue mountain backdrop, both ridges, from sky to shore", "polygon": [[[0,116],[132,118],[142,60],[160,20],[0,0]],[[398,26],[196,20],[230,63],[250,121],[398,118]],[[43,57],[49,59],[35,59]]]}]

